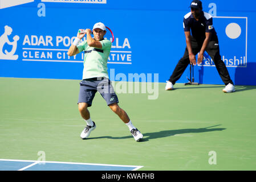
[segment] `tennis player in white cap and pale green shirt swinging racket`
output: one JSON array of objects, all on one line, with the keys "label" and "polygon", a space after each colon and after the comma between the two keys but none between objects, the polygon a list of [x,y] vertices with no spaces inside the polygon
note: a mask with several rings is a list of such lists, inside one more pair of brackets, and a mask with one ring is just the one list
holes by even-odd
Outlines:
[{"label": "tennis player in white cap and pale green shirt swinging racket", "polygon": [[[87,108],[92,105],[95,93],[99,92],[110,109],[128,126],[133,138],[138,142],[143,138],[143,134],[132,125],[127,113],[117,104],[119,100],[108,77],[107,61],[112,43],[104,39],[106,34],[105,25],[101,22],[96,23],[92,31],[94,38],[91,36],[90,29],[80,30],[68,49],[68,56],[74,56],[84,51],[83,80],[80,82],[78,109],[87,126],[80,137],[82,139],[88,138],[91,131],[96,128]],[[85,35],[87,39],[80,43]]]}]

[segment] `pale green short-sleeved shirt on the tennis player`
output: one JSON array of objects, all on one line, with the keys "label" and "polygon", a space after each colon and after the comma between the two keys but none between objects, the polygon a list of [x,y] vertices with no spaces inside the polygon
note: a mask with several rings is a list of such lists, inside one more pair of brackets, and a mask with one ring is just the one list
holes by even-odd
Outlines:
[{"label": "pale green short-sleeved shirt on the tennis player", "polygon": [[107,62],[112,43],[105,39],[100,43],[101,49],[88,46],[86,40],[77,46],[79,52],[84,51],[83,80],[94,77],[108,78]]}]

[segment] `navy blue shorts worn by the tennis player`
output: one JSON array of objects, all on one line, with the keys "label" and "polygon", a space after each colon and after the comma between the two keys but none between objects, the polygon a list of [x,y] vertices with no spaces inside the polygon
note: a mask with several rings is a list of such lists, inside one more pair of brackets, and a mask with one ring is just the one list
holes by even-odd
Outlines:
[{"label": "navy blue shorts worn by the tennis player", "polygon": [[107,105],[119,102],[111,81],[105,77],[97,77],[88,78],[80,82],[78,103],[86,102],[90,107],[96,92],[101,94]]}]

